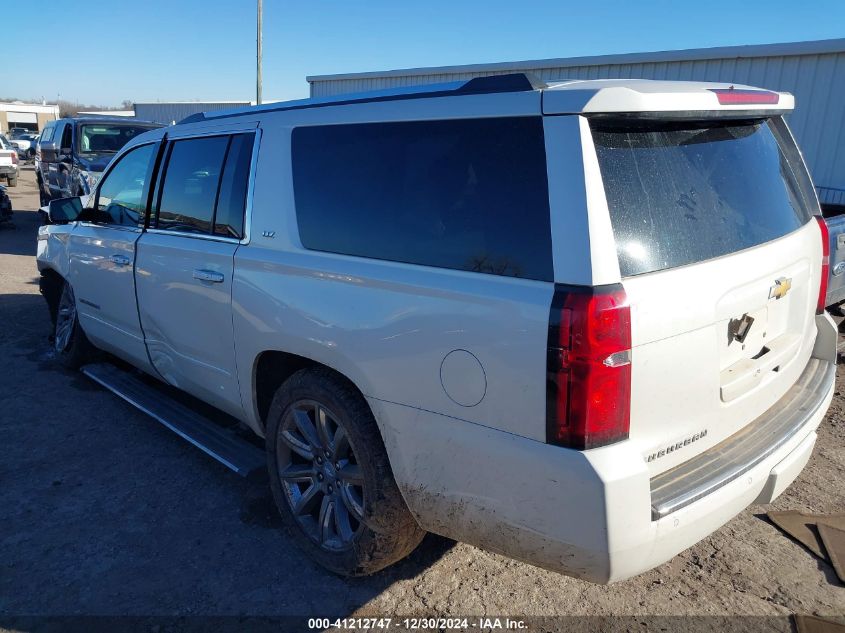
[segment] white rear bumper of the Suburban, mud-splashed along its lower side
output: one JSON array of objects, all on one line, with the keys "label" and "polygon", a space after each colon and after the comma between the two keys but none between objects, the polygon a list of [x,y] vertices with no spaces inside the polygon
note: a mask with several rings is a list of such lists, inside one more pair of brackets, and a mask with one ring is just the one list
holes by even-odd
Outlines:
[{"label": "white rear bumper of the Suburban, mud-splashed along its lower side", "polygon": [[682,465],[652,481],[632,442],[573,451],[370,402],[422,528],[584,580],[615,582],[666,562],[748,505],[772,501],[798,476],[834,391],[836,328],[828,315],[816,320],[803,382],[764,414],[778,422],[777,432],[761,422],[753,446],[738,438],[733,448],[714,447],[708,453],[718,449],[729,467],[709,454],[702,458],[709,463],[698,463],[703,477]]}]

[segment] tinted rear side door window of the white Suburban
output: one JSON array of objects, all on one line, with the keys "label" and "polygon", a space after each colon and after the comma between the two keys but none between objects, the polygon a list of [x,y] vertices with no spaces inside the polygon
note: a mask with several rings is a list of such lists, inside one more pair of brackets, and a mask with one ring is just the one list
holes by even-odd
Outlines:
[{"label": "tinted rear side door window of the white Suburban", "polygon": [[157,228],[240,238],[251,134],[174,141],[159,196]]}]

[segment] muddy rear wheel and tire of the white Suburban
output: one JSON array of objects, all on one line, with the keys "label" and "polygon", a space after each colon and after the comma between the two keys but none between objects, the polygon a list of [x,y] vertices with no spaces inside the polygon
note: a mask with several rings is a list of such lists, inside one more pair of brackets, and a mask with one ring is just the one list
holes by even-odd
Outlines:
[{"label": "muddy rear wheel and tire of the white Suburban", "polygon": [[375,418],[346,380],[325,368],[296,372],[276,391],[266,436],[282,521],[317,563],[364,576],[419,545],[425,532],[396,486]]}]

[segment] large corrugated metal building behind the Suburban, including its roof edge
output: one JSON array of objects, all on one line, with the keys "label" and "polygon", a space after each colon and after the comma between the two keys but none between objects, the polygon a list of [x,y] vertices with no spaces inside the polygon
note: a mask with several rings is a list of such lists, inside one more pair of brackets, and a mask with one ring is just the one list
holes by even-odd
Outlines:
[{"label": "large corrugated metal building behind the Suburban, including its roof edge", "polygon": [[823,203],[845,205],[845,39],[654,53],[412,68],[308,77],[312,97],[531,72],[566,79],[678,79],[760,86],[795,95],[789,116]]}]

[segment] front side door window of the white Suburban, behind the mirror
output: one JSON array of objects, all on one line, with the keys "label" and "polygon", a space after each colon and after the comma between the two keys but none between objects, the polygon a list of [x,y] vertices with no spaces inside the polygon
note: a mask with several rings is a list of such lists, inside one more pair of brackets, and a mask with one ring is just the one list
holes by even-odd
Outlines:
[{"label": "front side door window of the white Suburban, behind the mirror", "polygon": [[142,145],[121,157],[106,174],[97,193],[95,221],[120,226],[143,226],[146,184],[155,144]]}]

